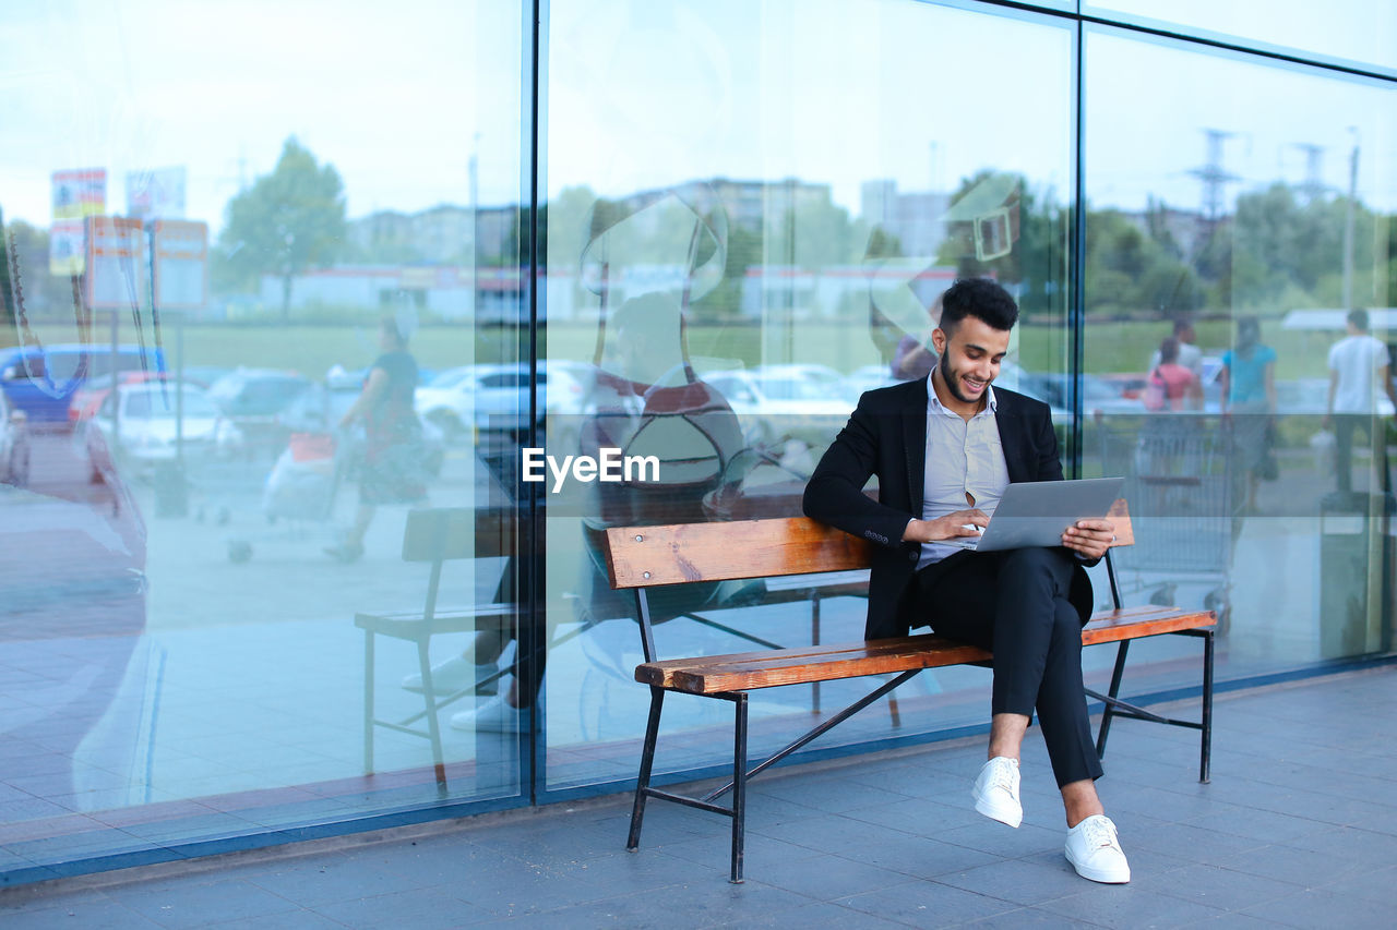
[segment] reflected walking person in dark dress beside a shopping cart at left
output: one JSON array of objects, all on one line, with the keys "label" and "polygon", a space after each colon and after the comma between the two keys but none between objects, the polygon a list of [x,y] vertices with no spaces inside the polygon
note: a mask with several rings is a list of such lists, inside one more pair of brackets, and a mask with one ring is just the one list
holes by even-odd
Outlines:
[{"label": "reflected walking person in dark dress beside a shopping cart at left", "polygon": [[380,321],[379,345],[383,355],[369,369],[353,406],[339,419],[341,429],[362,419],[366,433],[353,526],[339,545],[326,549],[326,554],[339,561],[355,561],[363,554],[363,536],[379,504],[407,504],[426,493],[419,454],[420,425],[412,409],[418,363],[408,353],[408,341],[394,317]]}]

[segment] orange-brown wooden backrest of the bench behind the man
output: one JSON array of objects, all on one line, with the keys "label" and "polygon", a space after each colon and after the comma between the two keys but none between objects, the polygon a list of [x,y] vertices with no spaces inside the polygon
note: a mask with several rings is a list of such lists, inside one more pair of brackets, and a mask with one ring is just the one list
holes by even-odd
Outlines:
[{"label": "orange-brown wooden backrest of the bench behind the man", "polygon": [[[1125,500],[1111,508],[1111,519],[1116,525],[1112,546],[1133,545]],[[612,588],[624,589],[868,568],[872,543],[805,517],[787,517],[619,526],[606,531],[605,552]]]}]

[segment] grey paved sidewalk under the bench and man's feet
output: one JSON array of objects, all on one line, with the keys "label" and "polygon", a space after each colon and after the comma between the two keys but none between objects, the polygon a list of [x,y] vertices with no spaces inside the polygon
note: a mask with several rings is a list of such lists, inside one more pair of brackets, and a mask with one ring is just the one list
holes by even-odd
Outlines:
[{"label": "grey paved sidewalk under the bench and man's feet", "polygon": [[1390,927],[1397,666],[1220,695],[1196,735],[1122,721],[1099,783],[1129,885],[1078,878],[1031,732],[1020,829],[974,813],[982,740],[752,785],[747,881],[726,821],[629,797],[172,863],[0,892],[22,927]]}]

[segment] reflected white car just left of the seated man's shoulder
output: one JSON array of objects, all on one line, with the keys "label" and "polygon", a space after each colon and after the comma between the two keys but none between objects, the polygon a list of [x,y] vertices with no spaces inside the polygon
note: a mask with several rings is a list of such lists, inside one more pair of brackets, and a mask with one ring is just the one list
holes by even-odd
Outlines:
[{"label": "reflected white car just left of the seated man's shoulder", "polygon": [[710,371],[703,380],[728,401],[752,444],[789,437],[828,445],[855,404],[842,378],[833,385],[788,366]]}]

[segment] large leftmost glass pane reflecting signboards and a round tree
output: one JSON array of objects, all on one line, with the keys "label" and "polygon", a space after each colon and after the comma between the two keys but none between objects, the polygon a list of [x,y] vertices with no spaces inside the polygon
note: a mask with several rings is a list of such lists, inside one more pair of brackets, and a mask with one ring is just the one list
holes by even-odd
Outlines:
[{"label": "large leftmost glass pane reflecting signboards and a round tree", "polygon": [[0,884],[522,796],[521,6],[0,13]]}]

